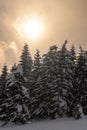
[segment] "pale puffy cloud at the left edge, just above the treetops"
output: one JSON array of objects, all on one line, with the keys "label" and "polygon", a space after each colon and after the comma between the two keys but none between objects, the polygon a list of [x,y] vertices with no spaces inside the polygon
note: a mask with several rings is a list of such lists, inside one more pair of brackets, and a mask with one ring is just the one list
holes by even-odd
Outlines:
[{"label": "pale puffy cloud at the left edge, just above the treetops", "polygon": [[14,41],[10,43],[0,42],[0,70],[3,65],[11,66],[18,62],[19,51]]}]

